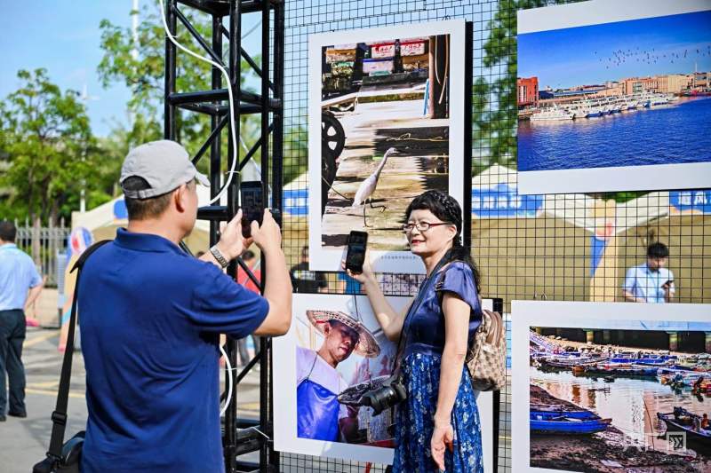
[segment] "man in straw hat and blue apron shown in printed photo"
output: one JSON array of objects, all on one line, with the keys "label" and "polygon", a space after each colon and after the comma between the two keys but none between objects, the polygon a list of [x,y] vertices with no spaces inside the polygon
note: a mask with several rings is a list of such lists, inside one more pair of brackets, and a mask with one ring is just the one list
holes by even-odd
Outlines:
[{"label": "man in straw hat and blue apron shown in printed photo", "polygon": [[297,346],[297,431],[300,438],[351,442],[358,433],[357,409],[340,405],[348,383],[336,369],[355,351],[376,358],[379,343],[371,331],[342,311],[306,311],[308,321],[324,336],[318,350]]}]

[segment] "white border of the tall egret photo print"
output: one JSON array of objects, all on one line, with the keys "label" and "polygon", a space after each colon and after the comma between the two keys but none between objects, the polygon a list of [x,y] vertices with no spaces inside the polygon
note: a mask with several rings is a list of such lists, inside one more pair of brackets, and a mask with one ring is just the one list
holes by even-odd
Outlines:
[{"label": "white border of the tall egret photo print", "polygon": [[[450,138],[449,138],[449,194],[464,207],[464,84],[466,22],[464,20],[431,21],[387,28],[363,28],[308,37],[308,243],[309,269],[312,271],[341,271],[345,247],[322,247],[321,216],[321,54],[324,46],[332,44],[370,43],[395,38],[450,35]],[[467,163],[468,164],[468,163]],[[471,198],[467,196],[467,198]],[[404,237],[403,237],[404,243]],[[410,251],[371,251],[371,263],[376,272],[424,274],[425,266],[419,256]]]}]

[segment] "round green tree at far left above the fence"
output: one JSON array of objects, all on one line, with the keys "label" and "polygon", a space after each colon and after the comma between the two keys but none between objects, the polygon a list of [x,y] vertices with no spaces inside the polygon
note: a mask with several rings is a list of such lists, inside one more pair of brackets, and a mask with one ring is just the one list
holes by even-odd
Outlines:
[{"label": "round green tree at far left above the fence", "polygon": [[20,70],[17,76],[20,89],[0,103],[6,166],[0,187],[11,190],[3,207],[8,217],[39,217],[56,225],[70,217],[82,186],[89,192],[98,188],[99,155],[78,92],[61,91],[45,69]]}]

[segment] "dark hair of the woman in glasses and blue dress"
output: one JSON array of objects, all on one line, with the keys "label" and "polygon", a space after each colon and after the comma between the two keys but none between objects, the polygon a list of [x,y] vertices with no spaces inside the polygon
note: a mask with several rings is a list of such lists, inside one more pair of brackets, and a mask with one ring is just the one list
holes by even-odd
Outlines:
[{"label": "dark hair of the woman in glasses and blue dress", "polygon": [[405,221],[410,218],[412,210],[429,210],[443,222],[450,222],[457,227],[457,236],[452,240],[448,253],[449,261],[461,261],[471,267],[474,274],[476,291],[481,293],[481,277],[479,270],[469,254],[469,248],[461,243],[462,213],[459,202],[451,195],[439,191],[427,191],[412,199],[405,210]]}]

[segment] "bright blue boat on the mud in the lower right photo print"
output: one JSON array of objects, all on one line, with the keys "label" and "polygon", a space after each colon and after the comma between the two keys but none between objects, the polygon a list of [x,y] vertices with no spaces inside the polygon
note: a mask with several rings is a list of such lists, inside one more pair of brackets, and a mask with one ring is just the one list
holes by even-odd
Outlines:
[{"label": "bright blue boat on the mud in the lower right photo print", "polygon": [[581,409],[579,411],[534,410],[529,413],[532,433],[588,435],[607,429],[612,419]]}]

